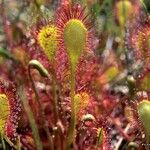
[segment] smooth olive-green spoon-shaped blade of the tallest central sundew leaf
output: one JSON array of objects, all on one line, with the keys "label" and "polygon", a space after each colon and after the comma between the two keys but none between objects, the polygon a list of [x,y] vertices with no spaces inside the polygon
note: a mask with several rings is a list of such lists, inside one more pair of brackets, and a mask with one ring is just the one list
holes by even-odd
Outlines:
[{"label": "smooth olive-green spoon-shaped blade of the tallest central sundew leaf", "polygon": [[87,29],[78,19],[71,19],[64,28],[64,43],[70,57],[71,65],[76,65],[85,49]]}]

